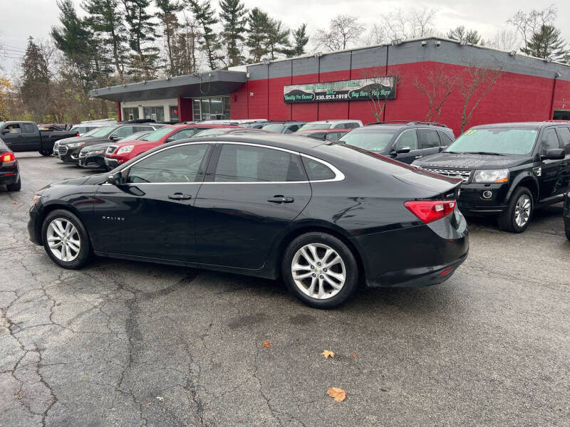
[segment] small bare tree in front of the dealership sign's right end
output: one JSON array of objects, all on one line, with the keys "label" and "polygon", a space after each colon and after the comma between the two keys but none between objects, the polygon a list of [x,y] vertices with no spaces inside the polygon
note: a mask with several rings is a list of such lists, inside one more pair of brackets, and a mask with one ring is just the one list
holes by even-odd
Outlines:
[{"label": "small bare tree in front of the dealership sign's right end", "polygon": [[402,80],[402,74],[398,70],[392,71],[390,75],[386,75],[384,67],[375,67],[361,72],[361,78],[368,80],[366,96],[370,100],[372,114],[377,122],[382,121],[386,103],[393,99],[390,95],[395,95],[395,93],[390,94],[389,91],[395,91],[396,86]]}]

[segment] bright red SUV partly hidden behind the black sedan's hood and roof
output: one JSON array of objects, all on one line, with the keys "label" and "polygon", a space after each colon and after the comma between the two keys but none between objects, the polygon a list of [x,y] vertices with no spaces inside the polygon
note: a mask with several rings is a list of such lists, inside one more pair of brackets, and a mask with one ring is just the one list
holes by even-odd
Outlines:
[{"label": "bright red SUV partly hidden behind the black sedan's hood and roof", "polygon": [[178,139],[190,138],[200,132],[212,128],[231,128],[243,130],[243,127],[229,125],[171,125],[161,127],[160,129],[150,132],[138,141],[128,141],[117,144],[110,144],[105,152],[105,165],[109,169],[114,169],[120,164],[128,162],[140,153],[158,147],[160,144],[177,141]]}]

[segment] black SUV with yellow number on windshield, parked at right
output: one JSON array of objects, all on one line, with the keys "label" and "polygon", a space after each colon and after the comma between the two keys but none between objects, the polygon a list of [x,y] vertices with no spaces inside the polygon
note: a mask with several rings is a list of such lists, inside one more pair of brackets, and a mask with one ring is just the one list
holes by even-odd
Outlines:
[{"label": "black SUV with yellow number on windshield, parked at right", "polygon": [[570,122],[472,127],[445,151],[413,163],[463,180],[466,215],[498,215],[504,231],[524,231],[537,206],[564,199],[570,185]]}]

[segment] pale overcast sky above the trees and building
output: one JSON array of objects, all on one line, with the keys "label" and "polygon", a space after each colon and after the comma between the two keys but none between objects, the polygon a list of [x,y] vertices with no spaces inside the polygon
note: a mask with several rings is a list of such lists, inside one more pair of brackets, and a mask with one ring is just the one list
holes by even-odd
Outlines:
[{"label": "pale overcast sky above the trees and building", "polygon": [[[79,7],[81,0],[74,0]],[[216,0],[212,3],[217,4]],[[301,23],[308,23],[309,34],[317,28],[327,26],[328,21],[338,14],[357,16],[362,23],[382,24],[390,12],[400,9],[436,8],[439,12],[435,26],[440,31],[447,31],[458,25],[474,28],[483,38],[493,38],[497,31],[507,27],[505,21],[517,10],[544,9],[551,4],[558,7],[556,26],[561,28],[566,41],[570,41],[570,1],[569,0],[244,0],[247,8],[259,7],[270,16],[281,19],[296,28]],[[0,67],[4,73],[12,73],[26,48],[28,36],[47,39],[50,28],[58,25],[56,0],[0,0],[2,24],[0,26],[0,44],[4,46]],[[10,18],[10,16],[12,18]]]}]

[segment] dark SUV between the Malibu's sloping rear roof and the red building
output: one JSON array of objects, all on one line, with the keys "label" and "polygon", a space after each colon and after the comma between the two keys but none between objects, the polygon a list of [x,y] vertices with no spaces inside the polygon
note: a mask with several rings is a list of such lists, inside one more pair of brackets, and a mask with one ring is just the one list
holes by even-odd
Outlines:
[{"label": "dark SUV between the Malibu's sloping rear roof and the red building", "polygon": [[408,164],[420,157],[440,152],[453,141],[455,136],[445,125],[407,120],[357,127],[338,140]]}]

